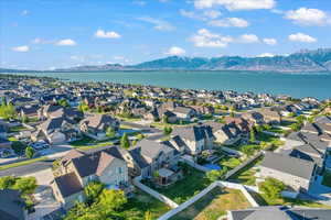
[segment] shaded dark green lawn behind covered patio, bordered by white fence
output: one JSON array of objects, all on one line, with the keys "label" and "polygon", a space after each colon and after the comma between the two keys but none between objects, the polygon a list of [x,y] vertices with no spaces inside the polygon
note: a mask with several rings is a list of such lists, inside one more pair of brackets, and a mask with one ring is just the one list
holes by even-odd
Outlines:
[{"label": "shaded dark green lawn behind covered patio, bordered by white fence", "polygon": [[192,167],[188,167],[188,169],[189,172],[188,174],[184,174],[183,179],[167,188],[156,188],[152,184],[145,184],[154,188],[160,194],[169,197],[174,202],[182,204],[192,198],[194,195],[199,194],[211,184],[211,182],[205,177],[204,173]]}]

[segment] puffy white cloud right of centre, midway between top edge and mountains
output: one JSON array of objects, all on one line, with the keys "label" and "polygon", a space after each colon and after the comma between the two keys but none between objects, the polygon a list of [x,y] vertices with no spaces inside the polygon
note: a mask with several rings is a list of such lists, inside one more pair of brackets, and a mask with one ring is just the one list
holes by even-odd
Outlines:
[{"label": "puffy white cloud right of centre, midway between top edge and mountains", "polygon": [[196,34],[191,36],[190,41],[197,47],[226,47],[234,40],[231,36],[223,36],[206,29],[200,29]]}]

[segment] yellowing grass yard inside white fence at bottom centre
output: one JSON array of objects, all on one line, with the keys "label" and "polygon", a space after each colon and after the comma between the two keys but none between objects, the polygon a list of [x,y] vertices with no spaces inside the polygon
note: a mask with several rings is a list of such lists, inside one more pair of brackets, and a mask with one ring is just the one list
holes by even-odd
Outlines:
[{"label": "yellowing grass yard inside white fence at bottom centre", "polygon": [[249,208],[241,190],[216,187],[170,220],[217,220],[227,210]]}]

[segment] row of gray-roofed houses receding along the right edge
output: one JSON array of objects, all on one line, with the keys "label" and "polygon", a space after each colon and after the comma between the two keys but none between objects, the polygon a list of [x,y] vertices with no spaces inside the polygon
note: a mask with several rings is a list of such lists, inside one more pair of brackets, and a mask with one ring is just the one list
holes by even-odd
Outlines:
[{"label": "row of gray-roofed houses receding along the right edge", "polygon": [[309,193],[318,175],[331,172],[330,153],[331,118],[318,117],[288,135],[280,151],[266,152],[259,175],[279,179],[295,191]]}]

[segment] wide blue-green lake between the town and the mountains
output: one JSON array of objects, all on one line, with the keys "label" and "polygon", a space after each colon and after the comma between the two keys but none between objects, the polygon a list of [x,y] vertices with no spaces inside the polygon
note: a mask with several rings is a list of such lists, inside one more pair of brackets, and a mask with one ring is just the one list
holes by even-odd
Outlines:
[{"label": "wide blue-green lake between the town and the mountains", "polygon": [[331,98],[331,74],[280,74],[264,72],[96,72],[30,73],[77,81],[113,81],[174,88],[236,90],[290,95],[295,98]]}]

